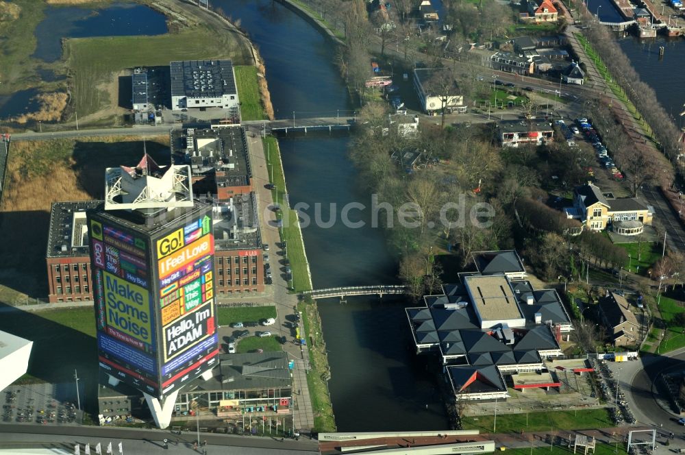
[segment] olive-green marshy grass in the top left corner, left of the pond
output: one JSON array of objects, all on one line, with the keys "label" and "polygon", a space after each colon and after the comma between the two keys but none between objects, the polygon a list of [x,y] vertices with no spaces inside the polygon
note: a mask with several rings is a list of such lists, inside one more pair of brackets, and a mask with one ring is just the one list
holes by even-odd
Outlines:
[{"label": "olive-green marshy grass in the top left corner, left of the pond", "polygon": [[0,27],[2,42],[2,71],[0,71],[0,93],[10,94],[38,82],[36,64],[32,58],[36,50],[36,26],[45,19],[45,2],[36,0],[14,0],[19,8],[18,19],[5,18]]}]

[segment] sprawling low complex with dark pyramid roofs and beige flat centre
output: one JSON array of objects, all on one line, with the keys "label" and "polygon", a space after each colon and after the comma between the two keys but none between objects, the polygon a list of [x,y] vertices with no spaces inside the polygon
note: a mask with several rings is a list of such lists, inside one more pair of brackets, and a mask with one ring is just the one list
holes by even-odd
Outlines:
[{"label": "sprawling low complex with dark pyramid roofs and beige flat centre", "polygon": [[[475,254],[477,267],[487,269],[493,253]],[[515,251],[503,253],[508,265],[493,266],[516,265]],[[546,371],[545,360],[562,356],[559,341],[573,330],[556,291],[535,290],[503,273],[461,273],[460,282],[425,295],[423,303],[406,308],[416,354],[438,358],[458,399],[506,398],[506,377]]]}]

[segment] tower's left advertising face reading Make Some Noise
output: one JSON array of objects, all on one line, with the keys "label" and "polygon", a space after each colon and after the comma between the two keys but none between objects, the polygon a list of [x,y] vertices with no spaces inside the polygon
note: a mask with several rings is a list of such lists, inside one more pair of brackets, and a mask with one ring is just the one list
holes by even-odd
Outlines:
[{"label": "tower's left advertising face reading Make Some Noise", "polygon": [[155,306],[148,248],[139,235],[89,219],[100,366],[114,378],[156,395]]}]

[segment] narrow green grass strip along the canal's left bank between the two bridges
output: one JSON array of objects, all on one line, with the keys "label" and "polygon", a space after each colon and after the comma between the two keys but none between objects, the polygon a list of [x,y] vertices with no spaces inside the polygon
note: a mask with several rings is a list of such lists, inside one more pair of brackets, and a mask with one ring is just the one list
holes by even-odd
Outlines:
[{"label": "narrow green grass strip along the canal's left bank between the two bridges", "polygon": [[[278,142],[275,138],[269,136],[263,141],[264,153],[266,153],[266,160],[269,161],[271,157],[270,167],[273,167],[273,184],[276,188],[271,190],[273,200],[279,206],[283,206],[284,188],[286,188],[285,178],[281,162],[278,159]],[[302,241],[301,232],[298,227],[298,216],[295,210],[288,210],[283,215],[285,221],[281,229],[281,239],[286,242],[288,247],[288,258],[290,259],[290,267],[292,268],[292,288],[295,292],[300,293],[312,288],[309,273],[307,270],[307,258],[304,250],[304,243]]]}]

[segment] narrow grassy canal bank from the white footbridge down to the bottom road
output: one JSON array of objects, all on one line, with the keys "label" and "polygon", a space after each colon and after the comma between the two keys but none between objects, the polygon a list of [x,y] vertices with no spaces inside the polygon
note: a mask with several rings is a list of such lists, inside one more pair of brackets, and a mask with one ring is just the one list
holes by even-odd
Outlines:
[{"label": "narrow grassy canal bank from the white footbridge down to the bottom road", "polygon": [[297,309],[302,313],[304,329],[308,334],[307,343],[312,369],[307,374],[307,385],[314,411],[314,427],[319,432],[332,432],[336,430],[336,421],[328,394],[328,384],[324,379],[329,367],[319,310],[312,300],[300,302]]}]

